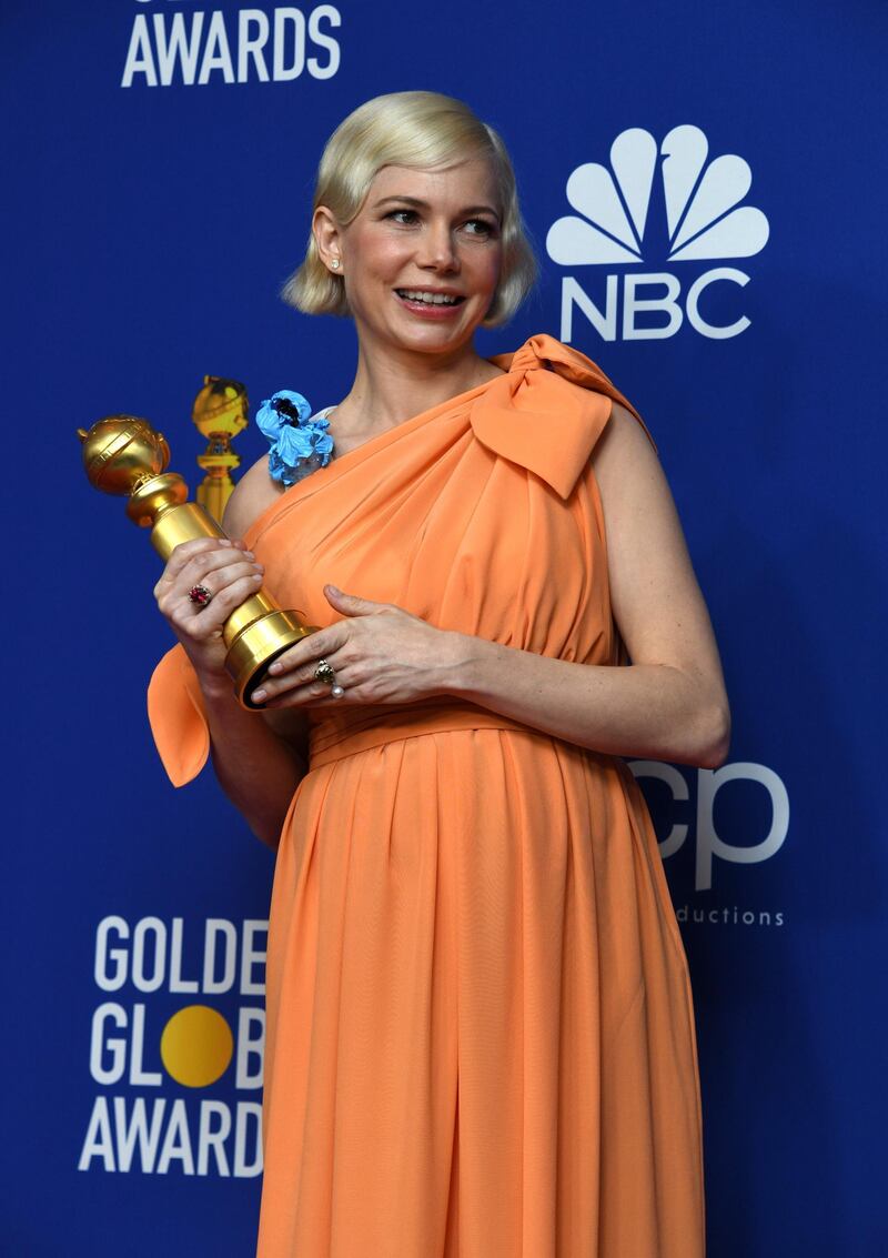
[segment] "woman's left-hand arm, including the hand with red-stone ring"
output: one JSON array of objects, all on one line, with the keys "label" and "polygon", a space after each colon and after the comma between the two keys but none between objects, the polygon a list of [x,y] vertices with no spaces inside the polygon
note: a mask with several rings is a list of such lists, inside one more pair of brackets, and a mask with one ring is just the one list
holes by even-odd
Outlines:
[{"label": "woman's left-hand arm, including the hand with red-stone ring", "polygon": [[[278,491],[260,459],[235,487],[223,520],[239,537]],[[204,584],[211,603],[195,608],[187,598]],[[177,546],[155,587],[161,613],[194,665],[210,730],[210,755],[219,782],[253,833],[274,848],[293,793],[307,771],[301,713],[247,712],[225,672],[221,626],[262,584],[262,565],[243,542],[214,538]]]}]

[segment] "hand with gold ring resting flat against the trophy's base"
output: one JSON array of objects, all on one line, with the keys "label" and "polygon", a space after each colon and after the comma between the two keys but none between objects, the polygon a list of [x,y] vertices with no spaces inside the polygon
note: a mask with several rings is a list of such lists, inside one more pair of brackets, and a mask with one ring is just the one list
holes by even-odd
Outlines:
[{"label": "hand with gold ring resting flat against the trophy's base", "polygon": [[[409,703],[443,691],[452,635],[391,603],[374,603],[323,587],[346,618],[303,638],[274,660],[253,698],[264,707],[343,707],[350,703]],[[345,694],[333,698],[314,669],[326,659]]]}]

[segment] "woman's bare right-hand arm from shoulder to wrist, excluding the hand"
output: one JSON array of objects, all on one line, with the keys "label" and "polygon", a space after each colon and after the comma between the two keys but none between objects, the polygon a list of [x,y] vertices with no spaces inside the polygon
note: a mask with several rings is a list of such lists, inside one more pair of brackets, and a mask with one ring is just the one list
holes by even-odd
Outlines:
[{"label": "woman's bare right-hand arm from shoulder to wrist, excluding the hand", "polygon": [[657,455],[616,403],[594,468],[631,664],[572,664],[457,634],[447,693],[592,751],[714,769],[731,717],[712,624]]}]

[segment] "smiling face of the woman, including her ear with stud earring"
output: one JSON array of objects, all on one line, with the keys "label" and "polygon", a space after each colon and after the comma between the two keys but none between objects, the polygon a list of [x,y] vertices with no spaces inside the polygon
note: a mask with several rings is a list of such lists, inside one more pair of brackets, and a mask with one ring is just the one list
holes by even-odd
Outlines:
[{"label": "smiling face of the woman, including her ear with stud earring", "polygon": [[318,237],[327,264],[340,259],[361,342],[425,353],[465,345],[499,279],[499,214],[483,159],[379,171],[348,226],[328,223]]}]

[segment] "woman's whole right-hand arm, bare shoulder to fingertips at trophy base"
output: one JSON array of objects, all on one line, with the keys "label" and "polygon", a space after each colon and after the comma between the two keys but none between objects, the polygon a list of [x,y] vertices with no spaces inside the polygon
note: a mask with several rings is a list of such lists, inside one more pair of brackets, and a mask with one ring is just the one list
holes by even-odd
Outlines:
[{"label": "woman's whole right-hand arm, bare shoulder to fingertips at trophy base", "polygon": [[[657,455],[616,404],[596,447],[595,474],[611,606],[631,665],[551,659],[435,629],[404,608],[326,586],[345,619],[275,660],[263,688],[267,708],[453,694],[591,751],[722,764],[730,712],[709,616]],[[314,681],[319,655],[345,701]]]}]

